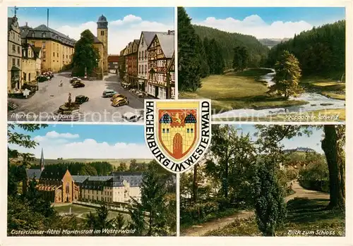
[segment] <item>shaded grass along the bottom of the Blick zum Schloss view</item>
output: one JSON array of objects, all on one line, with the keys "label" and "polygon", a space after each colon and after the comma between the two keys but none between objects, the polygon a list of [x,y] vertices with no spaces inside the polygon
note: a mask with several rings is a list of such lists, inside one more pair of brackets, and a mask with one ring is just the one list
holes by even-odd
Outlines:
[{"label": "shaded grass along the bottom of the Blick zum Schloss view", "polygon": [[[287,221],[277,230],[278,236],[345,236],[345,213],[341,210],[326,210],[328,199],[293,199],[287,203]],[[290,230],[296,231],[291,233]],[[255,217],[238,219],[233,223],[212,230],[212,236],[259,236]]]}]

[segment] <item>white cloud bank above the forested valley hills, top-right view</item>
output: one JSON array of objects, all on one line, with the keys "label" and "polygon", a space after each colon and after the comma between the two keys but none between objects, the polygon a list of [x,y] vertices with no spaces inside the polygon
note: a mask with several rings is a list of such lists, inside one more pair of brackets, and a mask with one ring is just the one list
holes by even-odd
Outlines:
[{"label": "white cloud bank above the forested valley hills, top-right view", "polygon": [[275,21],[268,24],[258,15],[247,16],[244,20],[208,17],[205,20],[193,21],[193,24],[213,27],[226,32],[253,35],[256,38],[280,39],[294,37],[294,34],[299,34],[302,31],[311,30],[311,28],[313,28],[313,25],[306,23],[304,20],[297,22]]}]

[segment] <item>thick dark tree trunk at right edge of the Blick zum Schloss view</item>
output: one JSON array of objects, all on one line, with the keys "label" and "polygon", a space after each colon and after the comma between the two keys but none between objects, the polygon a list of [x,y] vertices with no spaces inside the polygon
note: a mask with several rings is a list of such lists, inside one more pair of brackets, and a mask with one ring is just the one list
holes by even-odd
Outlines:
[{"label": "thick dark tree trunk at right edge of the Blick zum Schloss view", "polygon": [[337,134],[335,125],[324,125],[325,138],[321,143],[328,162],[328,172],[330,178],[330,203],[328,209],[345,207],[344,192],[342,193],[342,180],[340,176],[340,166],[337,154]]}]

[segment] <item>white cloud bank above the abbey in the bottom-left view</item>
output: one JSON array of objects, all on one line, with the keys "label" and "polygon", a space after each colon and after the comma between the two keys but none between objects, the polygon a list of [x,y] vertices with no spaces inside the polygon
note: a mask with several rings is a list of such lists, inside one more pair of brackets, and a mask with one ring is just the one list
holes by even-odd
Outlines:
[{"label": "white cloud bank above the abbey in the bottom-left view", "polygon": [[68,138],[53,138],[47,135],[37,136],[35,140],[39,143],[35,149],[26,149],[13,144],[10,145],[10,148],[18,149],[19,152],[35,154],[37,158],[43,148],[46,159],[59,157],[64,159],[152,159],[152,154],[145,144],[126,142],[109,144],[93,139],[69,142]]}]

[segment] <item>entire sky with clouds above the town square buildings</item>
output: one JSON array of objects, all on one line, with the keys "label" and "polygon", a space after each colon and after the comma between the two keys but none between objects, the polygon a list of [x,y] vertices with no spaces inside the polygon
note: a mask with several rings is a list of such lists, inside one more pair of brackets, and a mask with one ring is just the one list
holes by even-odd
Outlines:
[{"label": "entire sky with clouds above the town square buildings", "polygon": [[[9,7],[8,16],[13,14],[14,8]],[[109,54],[119,54],[128,42],[140,38],[141,31],[175,29],[174,8],[164,7],[52,7],[49,8],[49,27],[78,40],[86,29],[97,35],[97,20],[102,15],[108,20]],[[47,7],[18,7],[17,17],[20,25],[47,25]]]}]

